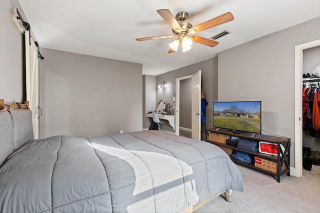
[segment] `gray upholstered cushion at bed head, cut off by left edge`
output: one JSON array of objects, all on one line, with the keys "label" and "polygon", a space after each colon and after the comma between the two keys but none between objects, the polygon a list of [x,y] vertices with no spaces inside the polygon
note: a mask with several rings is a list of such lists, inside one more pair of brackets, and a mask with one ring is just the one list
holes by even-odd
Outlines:
[{"label": "gray upholstered cushion at bed head, cut off by left edge", "polygon": [[11,117],[6,108],[0,110],[0,165],[13,152]]}]

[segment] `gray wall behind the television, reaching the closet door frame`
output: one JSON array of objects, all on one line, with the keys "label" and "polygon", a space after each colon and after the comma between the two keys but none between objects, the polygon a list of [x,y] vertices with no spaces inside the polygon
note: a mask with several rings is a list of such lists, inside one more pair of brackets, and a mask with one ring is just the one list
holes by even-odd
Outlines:
[{"label": "gray wall behind the television, reaching the closet door frame", "polygon": [[319,25],[320,17],[218,53],[218,100],[261,100],[262,129],[291,138],[292,165],[294,47],[319,39]]}]

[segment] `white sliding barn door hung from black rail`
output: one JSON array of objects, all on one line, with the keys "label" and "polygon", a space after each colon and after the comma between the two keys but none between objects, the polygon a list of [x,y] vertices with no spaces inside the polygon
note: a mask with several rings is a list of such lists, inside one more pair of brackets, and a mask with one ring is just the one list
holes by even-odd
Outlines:
[{"label": "white sliding barn door hung from black rail", "polygon": [[29,108],[32,111],[33,136],[39,138],[38,119],[38,49],[29,36],[29,31],[25,30],[25,81],[26,100],[29,101]]}]

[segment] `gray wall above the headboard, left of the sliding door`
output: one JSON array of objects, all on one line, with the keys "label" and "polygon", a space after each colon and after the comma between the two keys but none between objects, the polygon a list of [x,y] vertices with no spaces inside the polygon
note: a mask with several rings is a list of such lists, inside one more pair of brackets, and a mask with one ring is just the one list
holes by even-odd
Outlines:
[{"label": "gray wall above the headboard, left of the sliding door", "polygon": [[0,1],[0,98],[7,104],[24,101],[22,100],[23,37],[13,21],[12,6],[20,8],[17,0]]}]

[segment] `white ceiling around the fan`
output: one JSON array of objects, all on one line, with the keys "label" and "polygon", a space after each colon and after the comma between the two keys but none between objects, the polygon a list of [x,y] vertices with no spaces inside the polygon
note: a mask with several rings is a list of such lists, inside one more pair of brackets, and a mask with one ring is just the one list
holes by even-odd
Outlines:
[{"label": "white ceiling around the fan", "polygon": [[[141,63],[142,74],[150,75],[212,58],[219,51],[320,15],[320,0],[18,1],[41,47]],[[185,21],[193,26],[230,11],[234,20],[196,35],[231,33],[217,39],[215,47],[193,42],[187,52],[167,53],[176,38],[135,40],[173,34],[157,9],[169,9],[174,16],[187,11]]]}]

